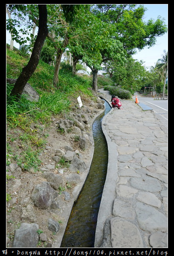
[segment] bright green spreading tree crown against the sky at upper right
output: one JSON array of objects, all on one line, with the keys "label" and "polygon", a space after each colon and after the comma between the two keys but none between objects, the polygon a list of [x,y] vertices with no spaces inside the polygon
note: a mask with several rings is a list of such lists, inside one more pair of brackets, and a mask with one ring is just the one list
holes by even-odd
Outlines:
[{"label": "bright green spreading tree crown against the sky at upper right", "polygon": [[123,43],[123,48],[130,55],[136,48],[142,50],[145,46],[151,47],[156,37],[166,33],[167,26],[160,17],[156,21],[143,21],[146,8],[136,4],[96,4],[93,12],[107,23],[113,25],[115,38]]}]

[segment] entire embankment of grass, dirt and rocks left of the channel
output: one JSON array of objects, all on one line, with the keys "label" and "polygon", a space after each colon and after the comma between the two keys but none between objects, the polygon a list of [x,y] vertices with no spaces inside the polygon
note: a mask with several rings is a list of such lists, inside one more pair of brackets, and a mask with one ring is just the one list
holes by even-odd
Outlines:
[{"label": "entire embankment of grass, dirt and rocks left of the channel", "polygon": [[[8,78],[18,77],[23,67],[16,58],[7,49]],[[23,241],[16,244],[25,224],[34,234],[29,247],[59,247],[92,161],[92,120],[103,104],[89,88],[91,77],[62,68],[59,90],[52,77],[53,67],[40,61],[29,80],[37,91],[34,101],[27,95],[16,101],[7,84],[7,247],[25,247]]]}]

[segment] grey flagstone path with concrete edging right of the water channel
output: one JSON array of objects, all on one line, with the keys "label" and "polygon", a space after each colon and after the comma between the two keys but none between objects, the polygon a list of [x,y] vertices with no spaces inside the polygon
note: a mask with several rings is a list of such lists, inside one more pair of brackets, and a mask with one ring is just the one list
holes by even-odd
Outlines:
[{"label": "grey flagstone path with concrete edging right of the water channel", "polygon": [[[99,96],[111,103],[108,91]],[[122,110],[111,109],[102,121],[109,160],[95,247],[166,248],[167,134],[151,110],[121,103]]]}]

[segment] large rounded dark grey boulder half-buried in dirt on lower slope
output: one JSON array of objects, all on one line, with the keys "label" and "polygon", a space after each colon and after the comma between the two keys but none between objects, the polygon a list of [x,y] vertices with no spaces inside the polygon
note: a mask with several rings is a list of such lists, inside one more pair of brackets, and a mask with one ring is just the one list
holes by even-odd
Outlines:
[{"label": "large rounded dark grey boulder half-buried in dirt on lower slope", "polygon": [[47,209],[57,195],[58,193],[51,188],[48,182],[43,182],[35,186],[31,193],[31,199],[38,208]]}]

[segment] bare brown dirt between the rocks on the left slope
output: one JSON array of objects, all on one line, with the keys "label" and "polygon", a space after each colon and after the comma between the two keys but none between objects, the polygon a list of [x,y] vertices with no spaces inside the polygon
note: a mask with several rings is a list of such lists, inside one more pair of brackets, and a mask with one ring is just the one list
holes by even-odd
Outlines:
[{"label": "bare brown dirt between the rocks on the left slope", "polygon": [[[20,227],[20,224],[25,223],[37,223],[39,225],[39,231],[46,235],[45,241],[39,240],[37,247],[60,247],[61,240],[63,238],[63,234],[65,232],[66,224],[68,222],[68,218],[74,204],[74,201],[78,198],[78,194],[82,189],[82,186],[86,180],[88,175],[88,171],[90,168],[90,164],[92,161],[92,156],[94,152],[94,144],[92,137],[92,123],[94,119],[102,113],[104,110],[96,108],[96,102],[92,102],[92,100],[86,100],[82,98],[82,102],[87,106],[88,115],[90,116],[90,123],[88,124],[88,128],[86,128],[86,133],[88,133],[90,137],[90,146],[86,150],[82,150],[79,147],[78,141],[74,140],[72,133],[61,133],[57,131],[57,122],[59,121],[60,116],[53,116],[51,120],[51,124],[48,128],[43,126],[43,130],[41,134],[48,134],[46,138],[46,146],[43,152],[41,152],[39,159],[41,160],[41,168],[45,168],[48,164],[55,164],[53,160],[53,156],[55,155],[55,149],[60,148],[64,150],[65,146],[70,146],[73,148],[73,151],[78,150],[78,155],[80,155],[81,159],[85,162],[87,166],[87,170],[83,173],[79,173],[80,180],[78,182],[71,182],[70,184],[65,185],[63,190],[68,192],[69,198],[65,197],[63,191],[57,191],[58,196],[56,201],[59,202],[58,209],[39,209],[37,208],[30,196],[33,191],[33,188],[40,184],[45,180],[43,177],[43,172],[32,172],[32,170],[26,171],[21,170],[21,168],[17,168],[12,172],[12,175],[15,178],[11,178],[7,180],[6,183],[6,192],[11,195],[12,200],[9,200],[6,204],[6,247],[12,247],[12,241],[14,238],[14,232],[17,228]],[[83,107],[82,107],[83,108]],[[79,112],[79,108],[78,109]],[[76,112],[75,108],[73,108],[71,115]],[[62,118],[62,117],[61,117]],[[65,117],[64,117],[65,118]],[[7,129],[7,137],[12,137],[14,134],[19,134],[19,129],[9,130]],[[16,136],[16,140],[10,142],[11,148],[16,152],[16,154],[20,155],[20,151],[22,150],[21,140]],[[14,164],[16,161],[14,160]],[[54,174],[59,174],[62,177],[65,174],[69,174],[70,171],[68,168],[64,169],[63,173],[60,173],[61,166],[57,166],[54,169],[47,170],[48,172],[53,172]],[[65,171],[66,170],[66,171]],[[31,212],[28,214],[23,214],[23,210],[26,211],[27,206],[32,206]],[[60,224],[60,230],[56,234],[51,232],[48,229],[47,220],[48,218],[52,218],[56,220]]]}]

